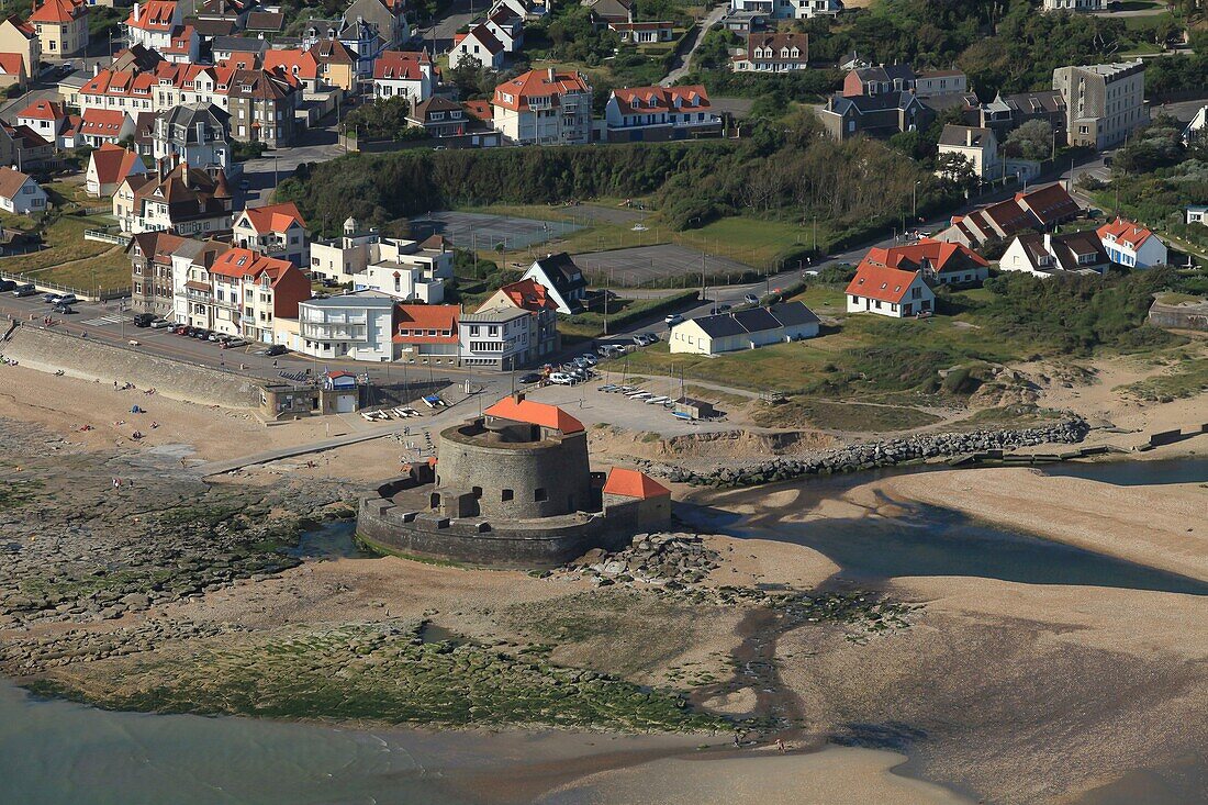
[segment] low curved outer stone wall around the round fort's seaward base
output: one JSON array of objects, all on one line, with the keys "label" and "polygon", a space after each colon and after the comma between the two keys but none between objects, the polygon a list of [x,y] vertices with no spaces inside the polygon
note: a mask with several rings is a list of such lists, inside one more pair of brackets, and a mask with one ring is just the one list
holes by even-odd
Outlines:
[{"label": "low curved outer stone wall around the round fort's seaward base", "polygon": [[388,500],[361,500],[356,535],[370,548],[425,558],[496,567],[545,568],[564,564],[592,548],[618,550],[628,533],[599,516],[559,517],[548,526],[496,528],[488,523],[403,512]]}]

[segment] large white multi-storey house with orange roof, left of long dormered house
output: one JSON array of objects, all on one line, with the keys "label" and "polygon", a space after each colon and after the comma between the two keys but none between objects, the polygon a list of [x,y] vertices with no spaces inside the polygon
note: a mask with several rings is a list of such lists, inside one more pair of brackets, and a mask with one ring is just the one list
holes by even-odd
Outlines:
[{"label": "large white multi-storey house with orange roof, left of long dormered house", "polygon": [[493,126],[519,144],[588,143],[592,86],[577,70],[529,70],[495,87]]}]

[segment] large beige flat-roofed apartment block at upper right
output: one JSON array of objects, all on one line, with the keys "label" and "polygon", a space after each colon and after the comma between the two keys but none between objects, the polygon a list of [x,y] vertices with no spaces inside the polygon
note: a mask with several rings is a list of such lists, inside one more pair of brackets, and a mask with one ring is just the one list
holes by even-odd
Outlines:
[{"label": "large beige flat-roofed apartment block at upper right", "polygon": [[1065,141],[1097,150],[1120,145],[1149,123],[1145,64],[1064,66],[1053,70],[1053,89],[1065,102]]}]

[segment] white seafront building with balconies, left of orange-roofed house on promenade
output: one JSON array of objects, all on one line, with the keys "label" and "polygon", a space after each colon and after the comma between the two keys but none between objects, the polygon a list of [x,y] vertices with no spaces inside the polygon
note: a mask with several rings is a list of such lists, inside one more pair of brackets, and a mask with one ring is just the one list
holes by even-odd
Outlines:
[{"label": "white seafront building with balconies, left of orange-roofed house on promenade", "polygon": [[298,303],[297,335],[277,342],[315,358],[391,360],[396,303],[389,294],[373,290],[310,299]]}]

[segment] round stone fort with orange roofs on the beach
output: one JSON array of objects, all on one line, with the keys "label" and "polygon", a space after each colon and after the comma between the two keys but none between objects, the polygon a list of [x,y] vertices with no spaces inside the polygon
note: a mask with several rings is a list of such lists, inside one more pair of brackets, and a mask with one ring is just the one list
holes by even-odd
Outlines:
[{"label": "round stone fort with orange roofs on the beach", "polygon": [[504,567],[552,567],[670,523],[670,491],[647,475],[593,473],[583,424],[505,396],[446,428],[437,456],[361,500],[358,538],[384,552]]}]

